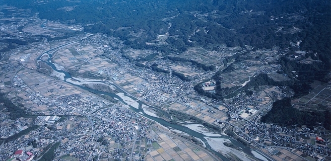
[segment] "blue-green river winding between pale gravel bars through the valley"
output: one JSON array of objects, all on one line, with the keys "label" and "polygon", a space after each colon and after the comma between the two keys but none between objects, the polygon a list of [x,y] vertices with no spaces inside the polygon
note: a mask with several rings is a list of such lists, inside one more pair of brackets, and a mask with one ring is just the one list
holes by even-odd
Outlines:
[{"label": "blue-green river winding between pale gravel bars through the valley", "polygon": [[[68,44],[70,44],[70,43],[68,43]],[[68,44],[65,44],[65,45],[68,45]],[[74,80],[77,81],[77,82],[81,82],[81,81],[79,81],[79,80],[73,78],[68,72],[63,71],[63,70],[61,70],[61,69],[59,69],[59,68],[56,68],[56,66],[52,63],[52,56],[53,56],[52,53],[54,53],[56,50],[58,50],[58,48],[63,47],[63,46],[65,46],[65,45],[61,45],[61,46],[59,46],[59,47],[57,47],[57,48],[53,48],[53,49],[51,49],[51,50],[49,50],[49,51],[47,51],[47,52],[41,54],[41,55],[36,59],[36,61],[43,61],[43,60],[41,60],[41,57],[42,57],[44,54],[48,54],[48,55],[49,55],[49,56],[48,56],[48,60],[47,60],[47,61],[43,61],[43,62],[47,63],[47,64],[48,64],[53,70],[55,70],[56,72],[62,73],[62,75],[64,74],[64,77],[63,77],[63,80],[62,80],[62,81],[66,82],[66,83],[69,83],[69,84],[71,84],[71,85],[73,85],[73,86],[79,87],[79,88],[81,88],[81,89],[83,89],[83,90],[86,90],[86,91],[90,91],[90,92],[93,92],[93,93],[99,93],[99,94],[103,94],[103,95],[108,95],[108,96],[110,96],[110,97],[112,97],[112,98],[116,98],[116,99],[118,99],[118,100],[121,101],[123,104],[127,105],[127,103],[126,103],[121,97],[119,97],[119,96],[116,95],[116,94],[113,94],[113,93],[107,93],[107,92],[101,92],[101,91],[96,91],[96,90],[92,90],[92,89],[86,88],[86,87],[84,87],[84,86],[80,86],[80,85],[73,84],[73,83],[71,83],[71,81],[68,81],[68,79],[74,79]],[[106,82],[103,82],[103,81],[96,81],[96,82],[106,83]],[[114,86],[114,85],[113,85],[113,86]],[[129,97],[130,99],[137,101],[137,98],[128,95],[125,91],[123,91],[122,89],[118,88],[117,86],[114,86],[114,87],[115,87],[120,93],[124,93],[124,95],[125,95],[126,97]],[[145,114],[145,113],[144,113],[144,110],[141,108],[142,105],[149,106],[149,107],[151,107],[151,106],[150,106],[150,105],[147,105],[147,104],[145,104],[145,103],[143,103],[142,101],[137,101],[137,103],[140,105],[139,108],[135,108],[135,107],[129,105],[130,109],[133,110],[133,111],[135,111],[136,113],[143,113],[145,117],[147,117],[147,118],[149,118],[149,119],[151,119],[151,120],[154,120],[154,121],[158,122],[159,124],[161,124],[161,125],[163,125],[163,126],[165,126],[165,127],[172,128],[172,129],[175,129],[175,130],[179,130],[179,131],[181,131],[181,132],[187,133],[187,134],[189,134],[189,135],[191,135],[191,136],[194,136],[194,137],[196,137],[196,138],[201,139],[202,141],[204,141],[204,143],[205,143],[205,145],[206,145],[206,148],[208,148],[210,151],[212,151],[213,153],[215,153],[217,156],[219,156],[219,157],[220,157],[221,159],[223,159],[223,160],[226,160],[226,161],[227,161],[228,159],[227,159],[224,155],[222,155],[220,152],[213,150],[212,147],[208,144],[208,142],[207,142],[207,140],[205,139],[205,137],[208,137],[208,138],[224,138],[224,139],[229,139],[229,140],[232,142],[232,144],[234,144],[235,146],[239,147],[244,153],[246,153],[246,154],[248,154],[248,155],[250,155],[250,156],[253,156],[253,154],[252,154],[252,152],[251,152],[252,149],[250,149],[249,147],[247,147],[247,146],[241,144],[241,143],[238,142],[237,140],[232,139],[231,137],[229,137],[229,136],[227,136],[227,135],[222,135],[222,136],[206,136],[206,135],[204,135],[204,134],[202,134],[202,133],[200,133],[200,132],[196,132],[196,131],[193,131],[193,130],[189,129],[188,127],[181,126],[181,125],[171,124],[171,123],[169,123],[169,122],[167,122],[167,121],[165,121],[165,120],[163,120],[163,119],[161,119],[161,118],[153,117],[153,116],[150,116],[150,115]],[[155,108],[155,107],[152,107],[152,108]]]}]

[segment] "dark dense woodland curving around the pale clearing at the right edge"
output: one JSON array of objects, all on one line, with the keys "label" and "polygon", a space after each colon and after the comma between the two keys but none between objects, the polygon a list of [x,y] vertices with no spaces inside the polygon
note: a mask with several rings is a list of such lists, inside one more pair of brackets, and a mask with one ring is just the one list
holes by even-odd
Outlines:
[{"label": "dark dense woodland curving around the pale clearing at the right edge", "polygon": [[[314,126],[318,123],[323,123],[324,127],[331,130],[331,115],[330,111],[301,111],[292,108],[291,99],[300,98],[308,95],[311,84],[314,80],[321,82],[329,82],[328,72],[330,64],[325,62],[313,62],[310,64],[302,64],[288,58],[280,58],[282,71],[288,75],[292,75],[292,71],[298,71],[298,77],[292,81],[284,83],[282,86],[288,86],[294,91],[294,96],[283,100],[276,101],[273,104],[272,110],[267,115],[261,118],[263,122],[273,122],[281,125],[310,125]],[[268,85],[274,85],[272,82]],[[278,85],[279,86],[279,85]]]}]

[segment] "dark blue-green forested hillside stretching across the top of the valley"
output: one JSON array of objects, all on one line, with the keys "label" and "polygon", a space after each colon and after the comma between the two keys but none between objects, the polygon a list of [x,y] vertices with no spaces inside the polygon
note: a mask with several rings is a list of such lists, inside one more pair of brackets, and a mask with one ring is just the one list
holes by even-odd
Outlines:
[{"label": "dark blue-green forested hillside stretching across the top of the valley", "polygon": [[[26,0],[2,3],[32,9],[42,19],[83,24],[86,32],[120,37],[136,48],[180,52],[187,46],[226,43],[255,48],[277,45],[284,49],[290,47],[291,42],[296,44],[301,40],[300,49],[317,52],[317,58],[329,59],[330,54],[326,53],[331,53],[331,2],[328,0]],[[165,33],[172,36],[168,37],[168,45],[158,45],[156,35]]]}]

